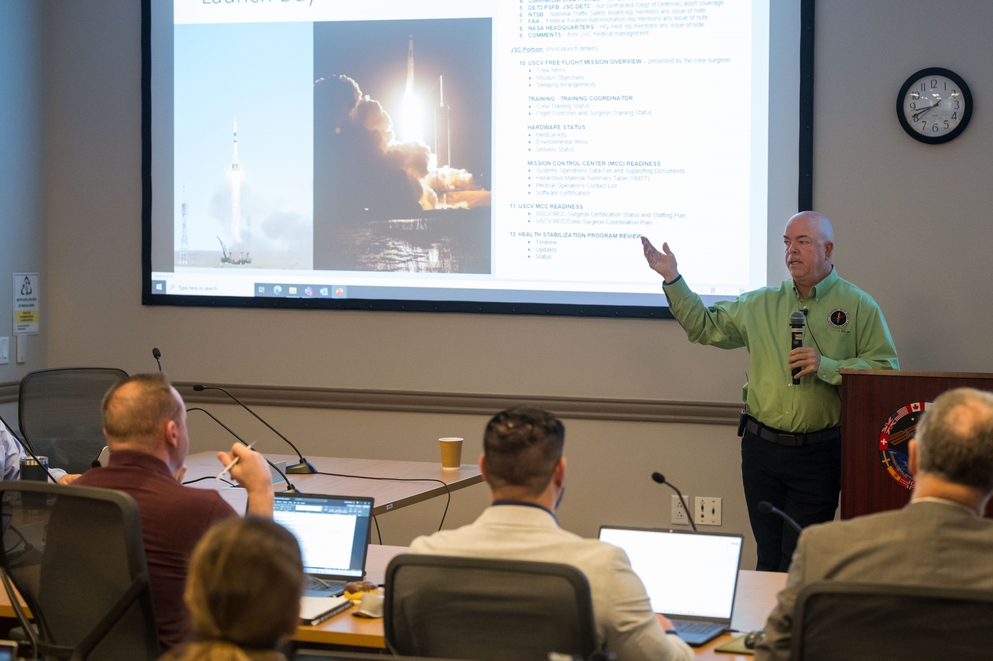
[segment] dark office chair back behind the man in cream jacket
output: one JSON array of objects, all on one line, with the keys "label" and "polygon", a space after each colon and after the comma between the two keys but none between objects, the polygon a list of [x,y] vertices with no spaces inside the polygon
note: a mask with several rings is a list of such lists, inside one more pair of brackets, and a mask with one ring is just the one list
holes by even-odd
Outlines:
[{"label": "dark office chair back behind the man in cream jacket", "polygon": [[386,568],[387,644],[408,656],[546,661],[597,651],[590,584],[575,567],[404,554]]}]

